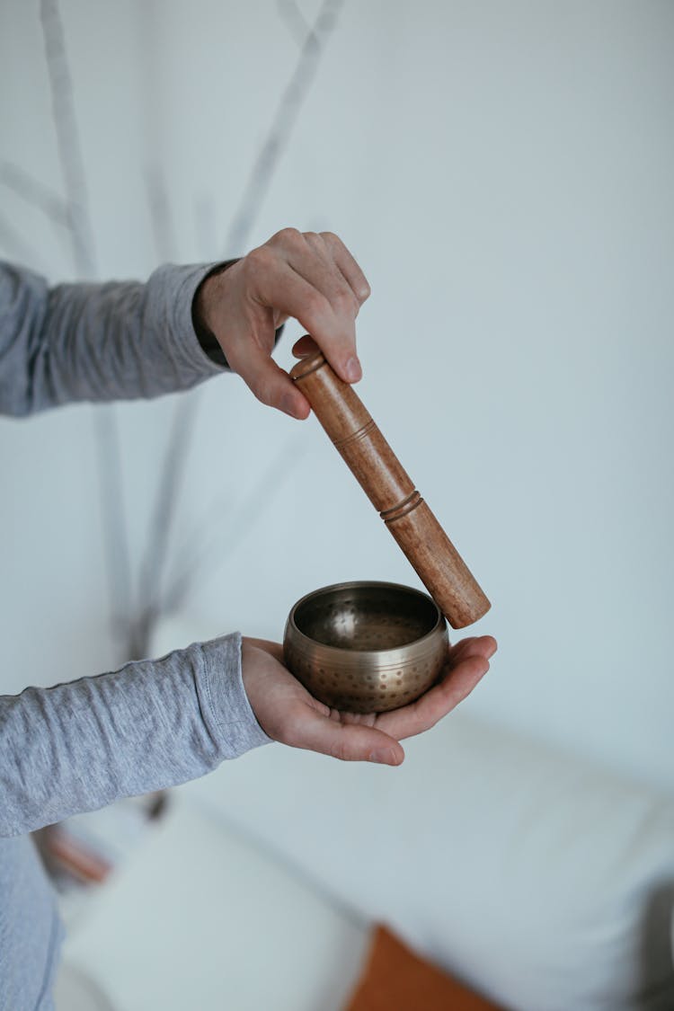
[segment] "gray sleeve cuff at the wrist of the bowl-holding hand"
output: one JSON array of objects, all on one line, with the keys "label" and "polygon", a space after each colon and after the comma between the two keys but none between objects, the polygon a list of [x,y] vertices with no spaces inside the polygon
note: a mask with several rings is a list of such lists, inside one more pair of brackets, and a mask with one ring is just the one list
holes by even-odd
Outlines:
[{"label": "gray sleeve cuff at the wrist of the bowl-holding hand", "polygon": [[197,690],[204,719],[219,742],[223,758],[237,758],[272,740],[258,723],[242,676],[239,632],[201,643],[203,669]]}]

